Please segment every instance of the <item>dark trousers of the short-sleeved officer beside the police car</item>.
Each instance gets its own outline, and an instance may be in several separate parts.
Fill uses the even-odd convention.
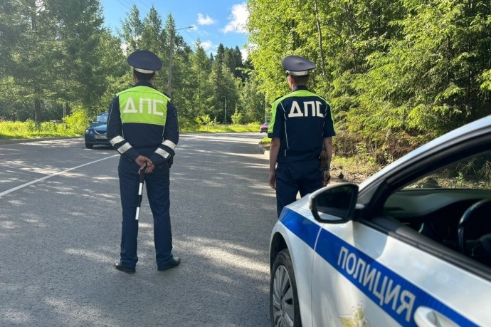
[[[320,160],[278,162],[276,166],[276,208],[278,217],[285,205],[323,187]]]

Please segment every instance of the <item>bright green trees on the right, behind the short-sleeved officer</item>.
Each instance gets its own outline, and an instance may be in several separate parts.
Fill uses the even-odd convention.
[[[268,101],[285,54],[317,63],[338,155],[385,163],[490,114],[489,0],[249,0],[250,60]]]

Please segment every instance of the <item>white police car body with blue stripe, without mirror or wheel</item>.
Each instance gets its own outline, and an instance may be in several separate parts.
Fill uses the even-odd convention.
[[[398,176],[417,171],[419,162],[426,167],[424,160],[433,160],[438,166],[453,149],[491,150],[491,144],[476,142],[479,137],[490,143],[485,138],[491,139],[491,118],[429,142],[362,183],[357,199],[361,219],[331,223],[328,214],[322,214],[325,222],[315,219],[312,197],[337,185],[283,209],[271,234],[270,266],[281,249],[289,251],[302,326],[491,326],[491,269],[385,217],[391,210],[401,221],[405,210],[426,217],[425,211],[438,212],[450,202],[472,201],[475,193],[410,190],[390,195],[384,214],[369,209],[381,185],[400,190]],[[491,198],[491,192],[479,192],[479,198]],[[391,230],[391,224],[401,226]]]

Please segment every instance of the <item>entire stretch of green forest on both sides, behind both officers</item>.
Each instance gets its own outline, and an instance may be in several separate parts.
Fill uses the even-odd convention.
[[[184,125],[262,121],[267,103],[288,91],[281,59],[305,56],[317,63],[309,87],[332,107],[337,155],[382,164],[491,113],[489,0],[247,5],[245,61],[238,47],[211,54],[187,44],[173,17],[153,7],[142,17],[133,6],[115,36],[99,0],[2,0],[0,119],[106,110],[132,83],[125,58],[135,49],[162,58],[156,86],[170,91]]]

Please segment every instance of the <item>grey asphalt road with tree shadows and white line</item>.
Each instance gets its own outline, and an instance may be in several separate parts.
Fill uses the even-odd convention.
[[[117,161],[83,139],[0,145],[0,326],[268,326],[276,222],[259,133],[181,135],[174,254],[159,272],[146,195],[136,274],[120,250]]]

